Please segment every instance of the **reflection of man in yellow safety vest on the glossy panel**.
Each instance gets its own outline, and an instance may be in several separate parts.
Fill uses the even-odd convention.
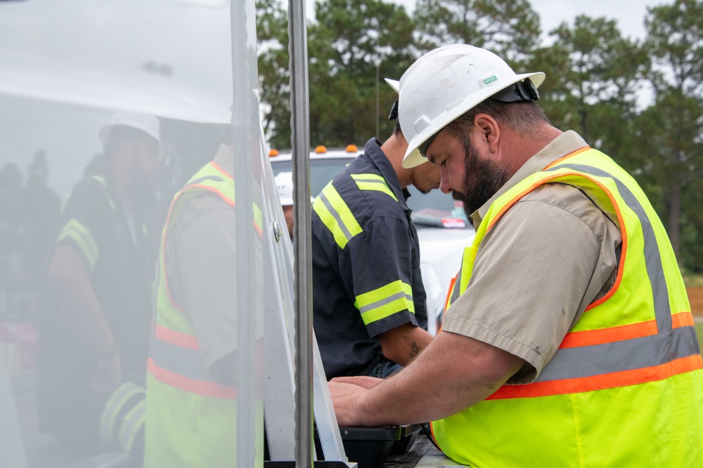
[[[245,261],[236,250],[233,173],[232,149],[222,145],[174,196],[166,220],[148,359],[145,467],[226,467],[236,460],[236,267]],[[250,206],[251,250],[244,255],[258,260],[246,274],[262,281],[261,210]]]

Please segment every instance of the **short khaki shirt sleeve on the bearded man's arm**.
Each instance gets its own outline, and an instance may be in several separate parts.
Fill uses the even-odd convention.
[[[579,189],[539,187],[486,235],[442,328],[521,357],[527,365],[509,382],[530,382],[614,283],[620,243],[617,228]]]

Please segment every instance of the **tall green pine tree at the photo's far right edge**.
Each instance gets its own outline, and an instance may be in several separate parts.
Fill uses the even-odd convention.
[[[645,47],[656,96],[642,113],[640,150],[650,185],[661,190],[660,215],[679,261],[703,270],[699,216],[703,173],[703,2],[676,0],[650,8]],[[681,248],[683,244],[683,249]]]

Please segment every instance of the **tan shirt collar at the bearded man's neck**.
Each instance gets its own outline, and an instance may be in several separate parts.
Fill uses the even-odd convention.
[[[488,208],[491,206],[491,203],[496,201],[498,197],[505,194],[505,192],[508,192],[508,190],[512,189],[512,187],[515,187],[515,185],[517,185],[520,181],[527,178],[528,175],[538,173],[557,159],[560,159],[563,156],[573,153],[577,149],[581,149],[586,146],[588,146],[586,140],[583,140],[581,135],[572,130],[562,133],[557,138],[549,142],[549,144],[546,147],[543,147],[540,152],[525,161],[522,167],[518,169],[510,179],[508,179],[508,182],[505,182],[503,187],[498,189],[498,192],[496,192],[494,196],[491,196],[489,201],[486,201],[481,208],[471,214],[471,220],[475,229],[478,229],[484,216],[488,212]]]

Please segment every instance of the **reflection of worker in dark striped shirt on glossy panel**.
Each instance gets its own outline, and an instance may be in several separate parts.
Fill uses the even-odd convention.
[[[67,199],[49,269],[57,311],[43,323],[39,410],[69,448],[137,450],[153,257],[144,227],[161,145],[153,116],[117,112],[101,166]]]

